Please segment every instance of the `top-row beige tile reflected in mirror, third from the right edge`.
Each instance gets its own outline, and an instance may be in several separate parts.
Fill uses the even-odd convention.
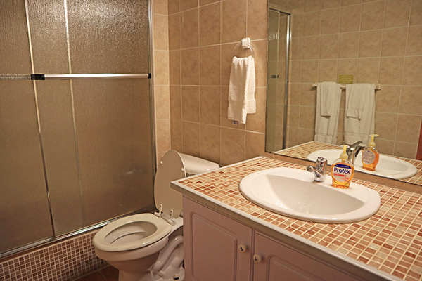
[[[385,1],[362,4],[361,30],[379,30],[383,28]]]

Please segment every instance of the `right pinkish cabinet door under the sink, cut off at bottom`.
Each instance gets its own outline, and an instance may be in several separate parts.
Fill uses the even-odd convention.
[[[255,254],[261,260],[254,263],[254,281],[357,280],[261,233],[255,234]]]

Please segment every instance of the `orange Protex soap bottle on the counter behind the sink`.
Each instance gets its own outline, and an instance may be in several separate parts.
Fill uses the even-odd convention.
[[[350,181],[354,176],[354,166],[349,161],[346,149],[347,145],[343,145],[343,153],[340,154],[340,158],[331,164],[331,177],[335,188],[349,188]]]

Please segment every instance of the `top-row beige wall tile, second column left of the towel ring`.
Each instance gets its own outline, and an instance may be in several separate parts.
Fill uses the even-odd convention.
[[[199,8],[199,45],[219,44],[221,22],[221,3]]]

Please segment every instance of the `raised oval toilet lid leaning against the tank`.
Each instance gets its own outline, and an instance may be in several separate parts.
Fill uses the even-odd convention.
[[[170,210],[173,210],[173,217],[178,218],[181,213],[182,195],[180,192],[170,188],[170,182],[179,178],[185,178],[186,172],[183,161],[179,153],[175,150],[169,150],[161,158],[158,165],[157,174],[154,183],[155,207],[170,216]]]

